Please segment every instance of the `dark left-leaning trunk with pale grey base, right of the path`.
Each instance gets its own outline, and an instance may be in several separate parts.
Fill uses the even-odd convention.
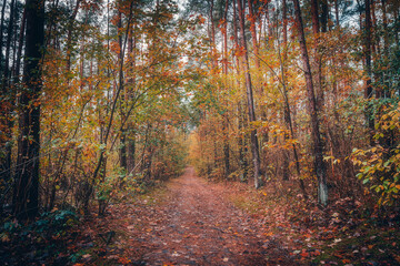
[[[311,117],[312,155],[314,158],[314,172],[318,178],[318,202],[326,206],[328,204],[328,186],[326,180],[326,167],[323,164],[322,141],[320,136],[320,126],[318,121],[317,102],[316,102],[313,84],[312,84],[310,60],[306,45],[304,30],[303,30],[299,0],[293,0],[293,3],[294,3],[296,23],[299,34],[301,58],[303,62],[303,71],[306,76],[308,109]]]

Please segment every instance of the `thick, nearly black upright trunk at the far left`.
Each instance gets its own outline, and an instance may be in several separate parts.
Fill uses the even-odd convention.
[[[33,218],[39,211],[40,60],[44,44],[44,1],[27,0],[27,33],[23,85],[20,96],[20,136],[13,194],[13,213]]]

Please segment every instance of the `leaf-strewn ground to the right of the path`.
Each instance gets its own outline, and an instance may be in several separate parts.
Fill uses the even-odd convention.
[[[299,264],[400,264],[398,214],[371,213],[370,208],[350,198],[320,209],[296,194],[291,188],[296,185],[290,182],[281,194],[286,196],[277,193],[276,183],[267,184],[259,192],[240,183],[227,185],[231,202],[252,213],[269,232],[267,235],[279,239]]]

